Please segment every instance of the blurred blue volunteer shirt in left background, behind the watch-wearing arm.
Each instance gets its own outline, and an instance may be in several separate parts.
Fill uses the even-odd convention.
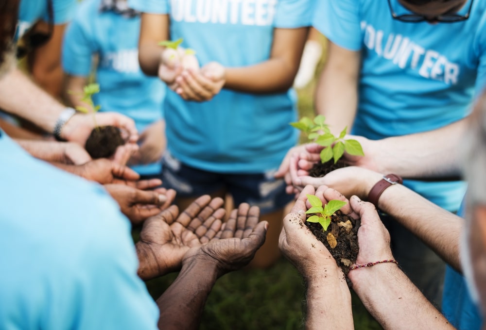
[[[93,102],[101,111],[113,111],[135,120],[139,132],[162,119],[165,84],[140,69],[138,42],[140,17],[127,18],[112,11],[100,12],[100,0],[79,4],[64,36],[62,63],[65,72],[88,76],[93,54],[99,55],[96,80],[100,93]],[[132,166],[140,174],[157,174],[161,162]]]

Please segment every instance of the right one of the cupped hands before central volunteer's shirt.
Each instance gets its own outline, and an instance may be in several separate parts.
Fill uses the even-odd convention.
[[[217,62],[209,62],[201,70],[185,69],[175,79],[175,92],[183,99],[208,101],[218,94],[226,82],[225,67]]]

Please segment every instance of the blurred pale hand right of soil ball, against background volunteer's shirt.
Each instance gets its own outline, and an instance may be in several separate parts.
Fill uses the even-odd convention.
[[[148,126],[139,138],[140,148],[130,159],[130,165],[155,163],[162,158],[167,140],[165,138],[165,122],[158,120]]]

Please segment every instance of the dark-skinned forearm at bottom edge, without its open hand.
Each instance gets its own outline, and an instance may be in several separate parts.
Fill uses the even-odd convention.
[[[174,283],[157,299],[159,329],[198,329],[204,304],[216,280],[212,264],[197,260],[183,264]]]

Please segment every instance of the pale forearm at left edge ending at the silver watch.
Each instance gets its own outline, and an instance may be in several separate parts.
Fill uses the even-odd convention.
[[[65,107],[15,68],[0,78],[0,108],[52,132]]]

